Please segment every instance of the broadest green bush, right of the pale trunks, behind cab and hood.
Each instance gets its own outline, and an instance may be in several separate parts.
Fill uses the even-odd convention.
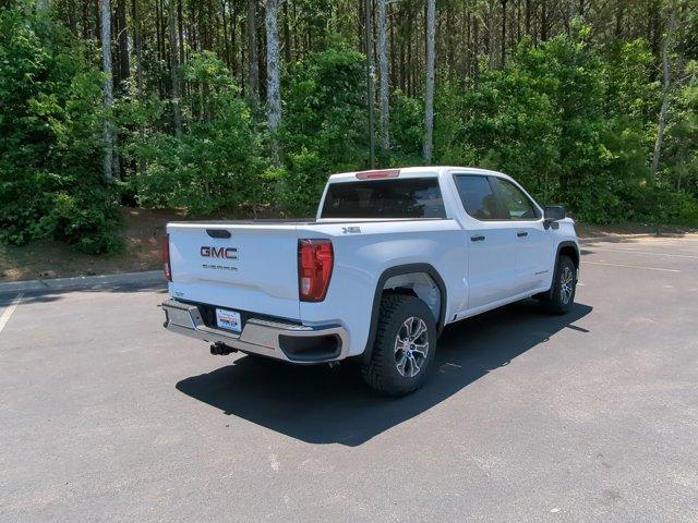
[[[504,70],[484,71],[477,85],[442,83],[436,99],[436,162],[501,170],[539,200],[563,203],[583,221],[662,216],[689,223],[695,216],[693,198],[638,190],[654,184],[648,151],[655,126],[647,119],[658,90],[648,83],[647,44],[628,42],[602,54],[586,42],[583,26],[574,29],[573,37],[557,36],[535,47],[524,41]],[[408,114],[418,113],[412,100],[398,100],[401,122],[408,121],[405,108],[413,108]],[[684,125],[690,121],[689,111],[685,114]],[[412,129],[417,120],[412,117]],[[686,147],[673,147],[676,141],[672,141],[679,131],[686,133],[678,123],[669,126],[665,154],[676,150],[688,159],[681,163],[686,166],[682,174],[688,186],[694,179],[693,157]],[[651,205],[640,205],[642,197]],[[662,197],[667,199],[660,205]]]

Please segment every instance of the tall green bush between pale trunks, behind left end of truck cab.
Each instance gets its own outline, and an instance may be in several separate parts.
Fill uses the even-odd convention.
[[[334,39],[285,75],[279,138],[287,210],[308,215],[329,174],[368,166],[364,68],[363,54]]]

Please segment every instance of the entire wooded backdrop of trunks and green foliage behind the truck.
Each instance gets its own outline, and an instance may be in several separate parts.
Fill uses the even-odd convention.
[[[414,165],[698,227],[697,150],[698,0],[0,0],[5,244],[308,216],[334,172]]]

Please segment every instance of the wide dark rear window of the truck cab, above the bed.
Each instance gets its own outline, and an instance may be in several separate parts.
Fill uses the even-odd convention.
[[[436,178],[332,183],[322,218],[445,218]]]

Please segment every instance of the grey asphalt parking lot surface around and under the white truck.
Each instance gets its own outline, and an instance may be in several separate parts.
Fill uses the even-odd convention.
[[[698,235],[448,327],[376,397],[166,332],[164,289],[0,296],[0,521],[698,521]]]

